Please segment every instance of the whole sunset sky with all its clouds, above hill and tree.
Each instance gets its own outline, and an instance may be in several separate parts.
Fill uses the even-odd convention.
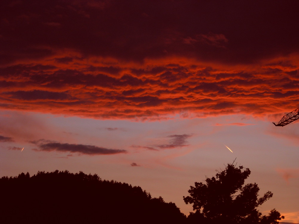
[[[258,209],[299,223],[299,123],[272,124],[299,107],[298,10],[1,0],[0,176],[96,173],[188,215],[190,186],[236,159],[274,194]]]

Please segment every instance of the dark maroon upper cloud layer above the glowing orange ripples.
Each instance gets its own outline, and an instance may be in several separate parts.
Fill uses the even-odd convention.
[[[71,48],[126,60],[188,55],[248,63],[299,47],[295,0],[13,2],[1,1],[1,54],[7,61]]]

